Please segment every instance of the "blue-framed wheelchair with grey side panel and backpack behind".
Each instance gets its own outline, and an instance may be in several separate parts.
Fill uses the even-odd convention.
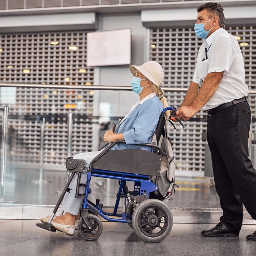
[[[165,116],[167,110],[171,110],[169,117]],[[159,242],[165,239],[172,230],[173,217],[170,209],[162,201],[175,192],[176,186],[174,177],[176,165],[173,161],[172,144],[167,136],[166,122],[172,123],[172,121],[177,120],[181,123],[175,116],[176,110],[175,107],[167,107],[162,110],[155,131],[155,144],[136,144],[137,146],[151,147],[151,152],[137,148],[110,150],[117,143],[125,143],[123,140],[108,143],[100,148],[99,150],[103,150],[91,161],[88,170],[86,170],[86,184],[80,183],[86,162],[72,157],[67,158],[66,167],[71,176],[49,222],[37,223],[37,226],[49,231],[56,231],[51,222],[75,173],[78,173],[75,197],[84,198],[78,223],[78,233],[84,240],[92,241],[101,236],[103,225],[99,217],[107,221],[127,223],[136,235],[145,242]],[[174,126],[173,123],[172,125]],[[182,123],[181,125],[184,128]],[[160,143],[161,139],[162,142]],[[144,160],[141,161],[141,159]],[[92,177],[118,180],[120,185],[113,212],[103,211],[103,204],[99,203],[99,199],[96,199],[95,203],[88,199],[92,192],[90,189]],[[127,181],[134,182],[133,191],[128,190]],[[79,194],[80,186],[85,187],[84,194]],[[121,214],[117,213],[120,200],[122,201]]]

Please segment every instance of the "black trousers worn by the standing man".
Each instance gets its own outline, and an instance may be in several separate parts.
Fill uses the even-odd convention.
[[[256,170],[248,157],[250,124],[248,102],[207,116],[207,142],[215,187],[223,210],[220,221],[237,235],[242,226],[242,203],[256,219]]]

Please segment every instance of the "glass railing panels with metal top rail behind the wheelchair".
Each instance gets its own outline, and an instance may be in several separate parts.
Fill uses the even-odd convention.
[[[121,86],[70,86],[67,89],[56,85],[26,86],[2,86],[0,91],[0,206],[53,206],[68,178],[65,159],[77,153],[97,151],[105,144],[105,131],[129,112],[138,95],[129,87]],[[249,96],[253,109],[255,93],[250,91]],[[255,120],[255,111],[252,111],[249,146],[253,162],[256,159]],[[176,124],[175,130],[168,126],[174,161],[178,165],[176,184],[179,188],[165,202],[171,208],[220,208],[206,142],[205,117],[198,115],[184,125],[182,129]],[[117,188],[116,180],[93,177],[90,200],[101,199],[105,207],[112,207]]]

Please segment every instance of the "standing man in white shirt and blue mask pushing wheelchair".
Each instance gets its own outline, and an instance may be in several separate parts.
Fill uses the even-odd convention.
[[[215,187],[223,215],[203,236],[239,236],[246,210],[256,219],[256,170],[248,158],[251,110],[247,102],[244,60],[237,40],[225,30],[223,7],[197,9],[195,32],[204,39],[193,80],[176,114],[185,121],[201,109],[207,115]],[[256,241],[256,232],[246,237]]]

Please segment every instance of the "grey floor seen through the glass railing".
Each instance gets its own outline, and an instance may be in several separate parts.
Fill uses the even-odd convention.
[[[17,200],[19,204],[54,205],[59,195],[55,191],[63,189],[66,182],[65,172],[45,171],[44,179],[50,183],[34,184],[31,180],[39,177],[38,170],[7,170],[5,179],[5,199]],[[175,195],[165,200],[171,207],[184,208],[220,208],[219,198],[215,187],[211,186],[209,178],[176,177],[179,186]],[[128,183],[132,190],[132,183]],[[91,180],[92,193],[90,199],[101,199],[104,206],[114,206],[115,194],[118,190],[117,180],[93,177]]]

